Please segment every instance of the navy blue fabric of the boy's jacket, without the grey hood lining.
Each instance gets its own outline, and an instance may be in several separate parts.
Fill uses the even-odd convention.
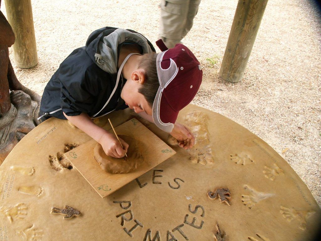
[[[116,29],[105,27],[92,32],[86,46],[75,49],[60,64],[45,87],[39,116],[60,108],[62,110],[47,114],[42,120],[51,116],[66,119],[63,112],[67,116],[80,115],[82,112],[92,116],[101,110],[116,85],[117,73],[110,74],[98,67],[95,63],[95,53],[99,40]],[[128,31],[137,33],[133,30]],[[148,40],[147,42],[152,51],[155,51],[152,44]],[[122,44],[117,47],[118,54]],[[125,82],[125,79],[119,81],[115,94],[99,113],[99,116],[128,107],[120,98],[120,92]]]

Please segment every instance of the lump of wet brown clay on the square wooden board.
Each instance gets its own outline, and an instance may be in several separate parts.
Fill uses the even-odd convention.
[[[135,171],[143,162],[143,143],[129,136],[118,135],[118,137],[129,145],[126,161],[124,158],[107,156],[99,143],[94,147],[94,158],[101,169],[111,174]]]

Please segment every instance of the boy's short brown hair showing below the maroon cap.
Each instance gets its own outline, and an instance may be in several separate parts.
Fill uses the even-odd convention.
[[[138,89],[138,93],[143,94],[151,107],[153,107],[154,99],[160,86],[157,76],[156,58],[157,53],[155,52],[144,54],[139,64],[139,68],[145,70],[145,81],[143,86]]]

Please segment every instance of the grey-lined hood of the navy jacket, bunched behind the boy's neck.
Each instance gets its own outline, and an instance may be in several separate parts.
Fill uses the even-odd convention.
[[[140,33],[111,27],[94,31],[87,40],[86,51],[98,67],[110,74],[116,74],[118,45],[125,41],[140,45],[143,54],[155,51],[154,48],[151,48],[149,41]]]

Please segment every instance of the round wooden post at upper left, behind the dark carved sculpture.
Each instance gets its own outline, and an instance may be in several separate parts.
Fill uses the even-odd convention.
[[[13,56],[20,68],[31,68],[38,63],[31,0],[5,0],[8,22],[13,28],[15,42]]]

